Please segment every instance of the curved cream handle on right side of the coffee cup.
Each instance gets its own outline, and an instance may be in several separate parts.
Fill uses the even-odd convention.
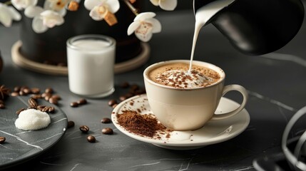
[[[233,85],[225,86],[223,88],[222,96],[225,95],[225,93],[228,93],[231,90],[237,90],[238,92],[240,92],[243,95],[243,103],[241,103],[238,108],[236,108],[235,110],[230,111],[228,113],[223,113],[223,114],[220,114],[220,115],[214,114],[213,118],[211,118],[211,120],[221,120],[221,119],[225,119],[225,118],[230,118],[231,116],[239,113],[241,110],[243,110],[243,108],[245,108],[245,105],[248,101],[248,91],[243,86],[233,84]]]

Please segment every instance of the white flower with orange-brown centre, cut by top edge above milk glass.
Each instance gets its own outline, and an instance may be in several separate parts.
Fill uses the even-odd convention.
[[[120,9],[118,0],[85,0],[84,6],[90,10],[89,16],[96,21],[101,21],[107,12],[115,14]]]

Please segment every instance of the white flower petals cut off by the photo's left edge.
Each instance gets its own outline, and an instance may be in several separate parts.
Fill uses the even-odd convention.
[[[0,23],[6,27],[11,26],[13,20],[19,21],[21,15],[12,6],[0,3]]]

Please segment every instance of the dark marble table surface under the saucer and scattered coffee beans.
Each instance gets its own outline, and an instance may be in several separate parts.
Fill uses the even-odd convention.
[[[166,150],[129,138],[113,124],[101,124],[101,118],[111,117],[113,109],[108,106],[108,100],[125,92],[120,87],[123,81],[143,86],[143,70],[151,63],[190,58],[193,12],[160,12],[157,18],[163,31],[149,42],[151,56],[148,62],[133,71],[116,74],[113,95],[88,99],[88,104],[79,108],[69,105],[80,97],[69,91],[66,76],[35,73],[12,62],[11,46],[19,40],[19,24],[11,28],[0,26],[0,49],[4,59],[0,84],[9,88],[24,85],[41,89],[52,87],[63,98],[58,107],[76,124],[49,150],[19,165],[11,165],[9,170],[255,170],[253,161],[257,157],[281,152],[285,125],[306,105],[305,23],[290,43],[264,56],[246,56],[236,51],[211,25],[200,32],[195,60],[220,66],[227,74],[225,84],[240,84],[250,96],[246,105],[250,124],[231,140],[197,150]],[[241,100],[236,93],[226,97]],[[91,128],[96,143],[87,142],[86,135],[78,130],[80,125]],[[113,128],[113,135],[101,133],[106,126]],[[4,148],[0,145],[0,157],[5,157],[1,154]]]

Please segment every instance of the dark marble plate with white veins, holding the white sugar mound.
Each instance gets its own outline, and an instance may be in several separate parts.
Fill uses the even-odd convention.
[[[29,97],[9,97],[5,100],[5,109],[0,109],[0,136],[6,141],[0,144],[0,169],[17,165],[30,160],[42,152],[48,150],[60,140],[67,128],[67,117],[56,105],[46,100],[39,100],[39,105],[49,105],[56,108],[51,113],[51,123],[47,128],[41,130],[19,130],[15,126],[18,118],[16,111],[28,107]]]

